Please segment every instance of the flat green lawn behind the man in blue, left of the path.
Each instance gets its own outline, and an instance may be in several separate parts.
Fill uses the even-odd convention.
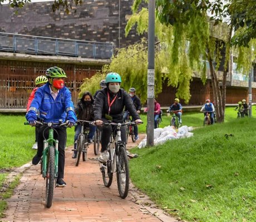
[[[32,160],[36,150],[35,127],[24,125],[22,115],[0,115],[0,169],[21,166]],[[67,145],[73,144],[73,128],[67,129]]]

